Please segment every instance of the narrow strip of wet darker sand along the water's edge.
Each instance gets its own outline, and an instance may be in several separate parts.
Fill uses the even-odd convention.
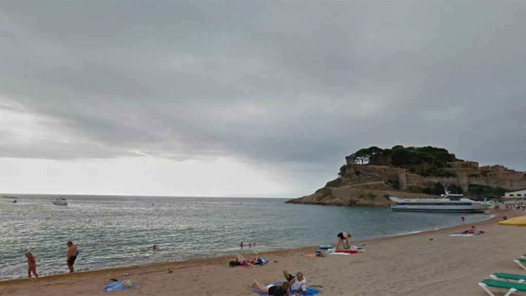
[[[431,230],[422,230],[422,231],[416,231],[411,233],[401,233],[401,234],[392,234],[392,235],[386,235],[386,236],[378,236],[376,238],[368,238],[363,240],[351,240],[351,244],[356,245],[364,245],[364,244],[370,244],[370,243],[377,243],[377,242],[385,242],[393,239],[399,239],[399,238],[407,238],[412,236],[421,236],[421,235],[428,235],[432,233],[443,233],[443,232],[449,232],[449,231],[456,231],[456,230],[465,230],[466,228],[474,226],[480,226],[480,225],[487,225],[492,224],[494,222],[500,221],[503,215],[507,214],[509,218],[512,218],[514,215],[510,215],[513,213],[513,211],[494,211],[490,210],[488,214],[490,214],[490,218],[483,221],[473,222],[473,223],[466,223],[461,225],[455,225],[455,226],[449,226],[446,228],[440,228],[440,229],[431,229]],[[321,243],[320,243],[321,244]],[[332,242],[331,244],[334,244]],[[239,253],[244,256],[254,256],[256,253],[261,255],[264,258],[272,257],[272,256],[284,256],[284,255],[290,255],[295,253],[312,253],[315,250],[319,249],[319,245],[317,246],[304,246],[300,248],[290,248],[290,249],[278,249],[278,250],[269,250],[264,252],[242,252],[240,250]],[[79,271],[75,272],[73,274],[70,273],[56,273],[56,274],[49,274],[49,275],[43,275],[41,277],[38,277],[37,279],[34,278],[32,281],[47,281],[47,280],[55,280],[55,279],[63,279],[63,278],[70,278],[70,277],[85,277],[89,275],[97,275],[97,274],[104,274],[104,273],[118,273],[118,272],[124,272],[124,273],[131,273],[133,271],[137,271],[140,269],[159,269],[159,268],[168,268],[171,269],[181,269],[186,268],[189,266],[202,266],[202,265],[224,265],[228,266],[228,262],[232,260],[232,257],[236,254],[229,254],[229,255],[221,255],[221,256],[215,256],[215,257],[203,257],[203,258],[196,258],[196,259],[187,259],[187,260],[181,260],[181,261],[167,261],[167,262],[158,262],[158,263],[147,263],[147,264],[137,264],[137,265],[126,265],[124,267],[109,267],[109,268],[100,268],[100,269],[93,269],[93,270],[87,270],[87,271]],[[25,283],[28,282],[27,278],[17,278],[17,279],[7,279],[7,280],[0,280],[0,287],[3,285],[9,285],[9,284],[19,284],[19,283]]]

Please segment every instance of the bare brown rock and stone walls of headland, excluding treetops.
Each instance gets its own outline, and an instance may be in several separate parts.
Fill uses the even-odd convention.
[[[428,188],[434,183],[457,185],[466,192],[470,184],[502,187],[508,190],[526,188],[526,173],[503,166],[479,167],[477,162],[451,162],[448,171],[454,176],[426,177],[387,165],[356,164],[347,156],[347,174],[327,182],[315,193],[287,201],[297,204],[382,205],[390,204],[388,196],[397,198],[437,198],[437,195],[409,193],[412,187]],[[398,184],[400,190],[390,184]]]

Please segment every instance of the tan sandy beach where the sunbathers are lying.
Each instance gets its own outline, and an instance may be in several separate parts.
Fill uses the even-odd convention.
[[[322,285],[318,289],[325,295],[483,296],[485,292],[478,282],[490,273],[526,274],[513,262],[526,253],[526,228],[497,224],[503,214],[511,218],[524,212],[494,214],[495,218],[476,223],[485,234],[470,237],[448,236],[473,225],[466,223],[449,229],[353,242],[365,243],[366,251],[361,254],[325,258],[302,255],[317,249],[312,247],[261,253],[263,258],[277,262],[255,268],[229,268],[233,256],[222,256],[51,275],[2,281],[0,295],[255,295],[250,287],[254,279],[261,283],[282,280],[281,271],[287,269],[304,272],[307,284]],[[338,230],[335,239],[336,233]],[[173,273],[168,273],[168,269]],[[131,279],[136,288],[104,293],[105,282],[112,278]]]

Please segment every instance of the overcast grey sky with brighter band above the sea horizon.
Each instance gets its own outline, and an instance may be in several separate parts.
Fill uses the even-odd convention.
[[[370,145],[525,170],[524,15],[0,2],[0,192],[298,197]]]

